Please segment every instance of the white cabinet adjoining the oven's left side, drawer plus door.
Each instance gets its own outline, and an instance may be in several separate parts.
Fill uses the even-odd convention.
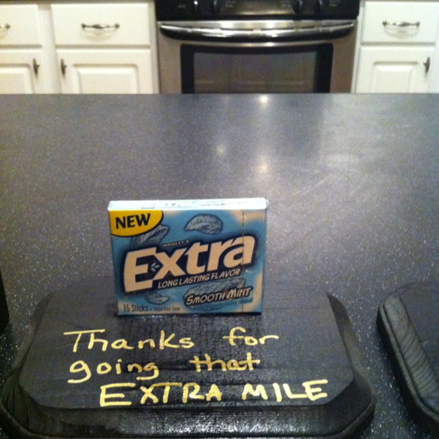
[[[62,93],[154,93],[150,5],[53,4]]]

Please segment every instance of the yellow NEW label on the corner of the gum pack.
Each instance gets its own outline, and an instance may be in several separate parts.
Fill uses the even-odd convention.
[[[163,219],[163,211],[109,211],[110,233],[134,236],[152,230]]]

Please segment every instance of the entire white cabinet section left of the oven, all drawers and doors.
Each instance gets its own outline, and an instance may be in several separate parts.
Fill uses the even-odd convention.
[[[158,93],[153,9],[152,0],[0,5],[0,93]]]

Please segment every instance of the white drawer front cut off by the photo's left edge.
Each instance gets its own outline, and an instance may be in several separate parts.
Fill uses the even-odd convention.
[[[0,5],[0,46],[40,44],[37,5]]]

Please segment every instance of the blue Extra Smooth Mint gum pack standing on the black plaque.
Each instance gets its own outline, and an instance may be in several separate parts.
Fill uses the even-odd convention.
[[[264,198],[112,201],[119,315],[260,313]]]

